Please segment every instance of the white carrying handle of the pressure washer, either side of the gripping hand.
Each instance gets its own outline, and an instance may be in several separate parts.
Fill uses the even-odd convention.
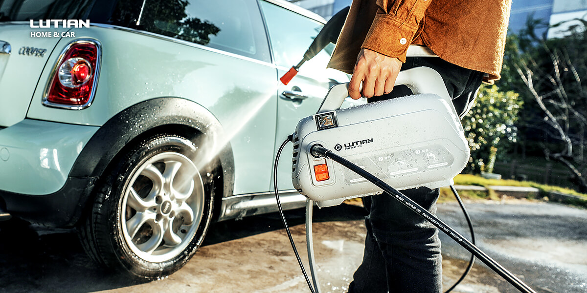
[[[430,67],[415,67],[400,71],[394,86],[404,84],[414,94],[437,94],[450,103],[450,97],[444,81],[436,70]],[[349,83],[340,83],[330,87],[317,113],[335,111],[349,96]]]

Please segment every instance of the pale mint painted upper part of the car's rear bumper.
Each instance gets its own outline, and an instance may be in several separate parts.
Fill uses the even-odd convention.
[[[25,119],[0,130],[0,186],[27,195],[61,189],[98,127]]]

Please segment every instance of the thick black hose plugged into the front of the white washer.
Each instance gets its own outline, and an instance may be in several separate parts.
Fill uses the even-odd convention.
[[[371,173],[361,169],[359,166],[355,165],[354,163],[348,161],[342,156],[334,154],[329,149],[323,148],[320,145],[313,145],[311,148],[311,154],[316,157],[325,157],[332,159],[332,161],[340,163],[340,165],[345,166],[346,168],[350,169],[363,178],[369,180],[371,183],[375,184],[377,187],[383,189],[384,192],[389,193],[392,195],[393,198],[399,200],[403,205],[409,207],[413,212],[419,214],[421,217],[424,217],[428,222],[436,226],[439,230],[443,231],[449,237],[451,237],[454,241],[457,241],[458,244],[463,246],[466,250],[472,253],[475,257],[479,258],[486,264],[491,270],[495,271],[498,275],[512,284],[515,288],[517,288],[520,292],[523,293],[536,293],[532,288],[526,285],[524,282],[519,280],[514,274],[510,271],[506,270],[502,267],[497,261],[493,260],[489,255],[485,254],[481,251],[478,247],[476,247],[473,243],[469,240],[465,239],[461,234],[459,234],[456,230],[442,222],[433,214],[429,213],[426,209],[418,205],[416,202],[411,200],[409,197],[403,195],[403,193],[397,191],[392,186],[389,186],[387,183],[383,182],[383,180],[377,178],[376,176],[372,175]]]

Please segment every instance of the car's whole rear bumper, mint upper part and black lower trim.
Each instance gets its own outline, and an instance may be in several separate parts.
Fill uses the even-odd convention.
[[[95,178],[70,174],[99,127],[23,120],[0,130],[0,212],[68,226]]]

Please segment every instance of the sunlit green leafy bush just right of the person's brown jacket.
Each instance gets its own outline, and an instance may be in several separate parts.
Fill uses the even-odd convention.
[[[515,124],[522,104],[514,91],[500,91],[495,85],[481,86],[475,106],[463,118],[463,128],[471,148],[466,171],[493,172],[498,154],[504,153],[507,144],[517,141]]]

